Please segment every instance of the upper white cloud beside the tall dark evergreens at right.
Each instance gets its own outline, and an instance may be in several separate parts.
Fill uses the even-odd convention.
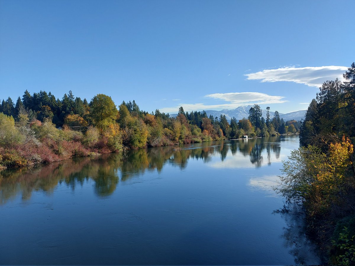
[[[339,78],[343,80],[343,73],[348,70],[344,66],[322,67],[281,67],[267,69],[256,73],[245,74],[247,79],[260,79],[261,82],[291,81],[306,84],[310,87],[321,87],[323,82]]]

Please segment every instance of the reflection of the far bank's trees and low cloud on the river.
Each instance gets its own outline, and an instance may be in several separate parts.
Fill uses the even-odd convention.
[[[58,184],[75,190],[85,181],[94,182],[95,194],[112,194],[119,182],[143,174],[145,171],[163,171],[166,164],[185,169],[189,160],[202,160],[212,167],[261,167],[280,161],[280,138],[257,138],[212,143],[180,145],[181,150],[169,147],[133,150],[127,153],[85,157],[31,168],[10,169],[0,172],[0,204],[21,195],[31,198],[34,191],[53,193]],[[228,154],[232,156],[228,156]],[[218,156],[219,155],[219,156]],[[218,160],[219,157],[219,160]]]

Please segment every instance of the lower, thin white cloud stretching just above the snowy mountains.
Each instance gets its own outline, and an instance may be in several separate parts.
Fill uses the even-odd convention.
[[[221,110],[221,109],[235,109],[242,105],[250,104],[279,104],[284,103],[284,96],[273,96],[259,92],[232,92],[232,93],[214,93],[205,95],[204,98],[215,100],[223,100],[226,103],[222,104],[205,104],[202,102],[180,103],[177,106],[165,107],[159,109],[161,112],[174,113],[178,112],[179,107],[182,106],[185,111],[202,111],[202,110]]]

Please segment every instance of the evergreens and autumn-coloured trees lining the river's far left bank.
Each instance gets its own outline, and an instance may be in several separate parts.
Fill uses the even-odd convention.
[[[32,95],[26,90],[16,103],[9,97],[0,105],[0,167],[21,167],[42,162],[111,153],[127,149],[183,143],[291,134],[300,122],[283,121],[267,107],[266,119],[259,105],[239,121],[225,116],[207,117],[205,111],[176,117],[158,109],[140,110],[135,100],[116,107],[110,96],[97,94],[90,102],[72,91],[62,99],[50,92]]]

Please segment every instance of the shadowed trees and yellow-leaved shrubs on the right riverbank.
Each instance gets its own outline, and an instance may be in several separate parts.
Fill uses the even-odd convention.
[[[355,63],[326,81],[300,128],[301,148],[284,162],[275,190],[301,204],[307,232],[332,265],[355,264]]]

